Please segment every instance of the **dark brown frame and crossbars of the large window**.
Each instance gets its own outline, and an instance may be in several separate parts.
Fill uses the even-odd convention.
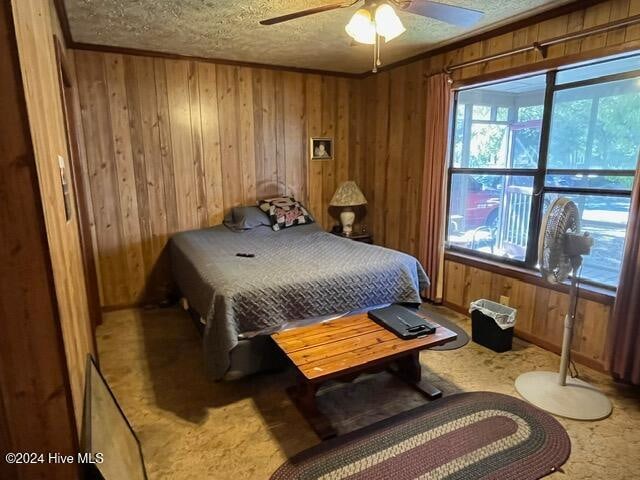
[[[640,56],[640,53],[634,53],[629,56]],[[604,63],[613,60],[612,58],[602,59],[597,62],[592,62],[591,65]],[[581,68],[585,64],[575,65],[570,68]],[[558,85],[556,83],[558,71],[565,68],[556,68],[545,72],[532,72],[527,75],[518,76],[514,78],[503,78],[490,83],[481,83],[477,85],[469,85],[454,90],[452,113],[450,116],[450,135],[449,135],[449,152],[448,152],[448,168],[447,168],[447,204],[446,204],[446,222],[445,222],[445,251],[452,253],[459,253],[465,256],[477,257],[489,262],[502,263],[519,268],[525,268],[527,270],[537,272],[537,252],[538,252],[538,239],[539,235],[536,232],[542,224],[543,211],[544,211],[544,197],[547,193],[559,193],[559,194],[574,194],[574,195],[593,195],[593,196],[615,196],[631,198],[632,191],[630,190],[618,190],[618,189],[606,189],[606,188],[584,188],[584,187],[558,187],[547,186],[546,177],[549,175],[580,175],[587,174],[593,175],[594,173],[601,176],[637,176],[638,163],[636,163],[636,170],[596,170],[596,169],[548,169],[548,154],[549,154],[549,140],[551,135],[551,122],[553,114],[553,99],[554,95],[558,91],[568,90],[573,88],[580,88],[590,85],[598,85],[603,83],[614,82],[618,80],[626,80],[632,78],[640,79],[640,69],[632,70],[628,72],[620,72],[615,74],[608,74],[597,78],[589,78],[586,80],[577,80],[574,82],[568,82]],[[469,167],[456,167],[455,162],[455,135],[456,135],[456,116],[458,111],[458,95],[460,92],[478,88],[481,86],[492,85],[496,83],[504,83],[509,80],[518,78],[529,78],[533,76],[545,75],[545,93],[543,102],[543,114],[542,124],[540,127],[540,144],[538,147],[538,167],[537,168],[469,168]],[[496,107],[497,110],[497,107]],[[465,110],[466,111],[466,110]],[[493,111],[493,107],[492,107]],[[473,108],[471,108],[470,122],[473,123]],[[493,115],[492,115],[493,117]],[[477,122],[477,121],[476,121]],[[486,121],[484,123],[495,123],[493,121]],[[504,122],[498,122],[504,123]],[[531,199],[531,215],[529,219],[529,230],[527,238],[527,249],[524,260],[517,260],[513,258],[505,258],[491,253],[479,252],[470,248],[460,247],[457,245],[449,244],[449,217],[451,209],[451,185],[453,181],[453,175],[509,175],[509,176],[525,176],[533,177],[533,195]],[[589,278],[583,278],[581,281],[587,285],[591,285],[597,288],[615,292],[616,286],[607,285]]]

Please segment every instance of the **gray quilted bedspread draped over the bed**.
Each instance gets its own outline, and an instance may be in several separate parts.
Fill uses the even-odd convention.
[[[206,321],[209,374],[220,379],[238,336],[284,322],[384,303],[420,303],[429,279],[410,255],[304,225],[182,232],[170,243],[174,279]],[[253,253],[242,258],[236,253]]]

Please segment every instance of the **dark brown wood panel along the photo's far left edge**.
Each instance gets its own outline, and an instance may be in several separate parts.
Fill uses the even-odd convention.
[[[4,461],[75,454],[77,435],[9,2],[0,2],[0,40],[0,478],[66,480],[75,465]]]

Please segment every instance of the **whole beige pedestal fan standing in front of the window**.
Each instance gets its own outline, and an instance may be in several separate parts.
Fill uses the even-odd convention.
[[[558,198],[549,206],[538,245],[538,262],[546,281],[561,283],[573,272],[569,312],[564,320],[559,372],[524,373],[516,379],[516,390],[529,403],[554,415],[576,420],[605,418],[611,413],[609,399],[587,382],[567,378],[582,255],[588,255],[593,246],[589,234],[580,233],[580,215],[575,203]]]

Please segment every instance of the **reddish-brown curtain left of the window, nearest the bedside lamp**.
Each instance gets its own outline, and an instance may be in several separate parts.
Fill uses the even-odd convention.
[[[444,274],[446,157],[451,109],[451,88],[446,74],[440,73],[427,79],[426,99],[418,258],[431,279],[431,286],[424,295],[431,301],[440,302]]]

